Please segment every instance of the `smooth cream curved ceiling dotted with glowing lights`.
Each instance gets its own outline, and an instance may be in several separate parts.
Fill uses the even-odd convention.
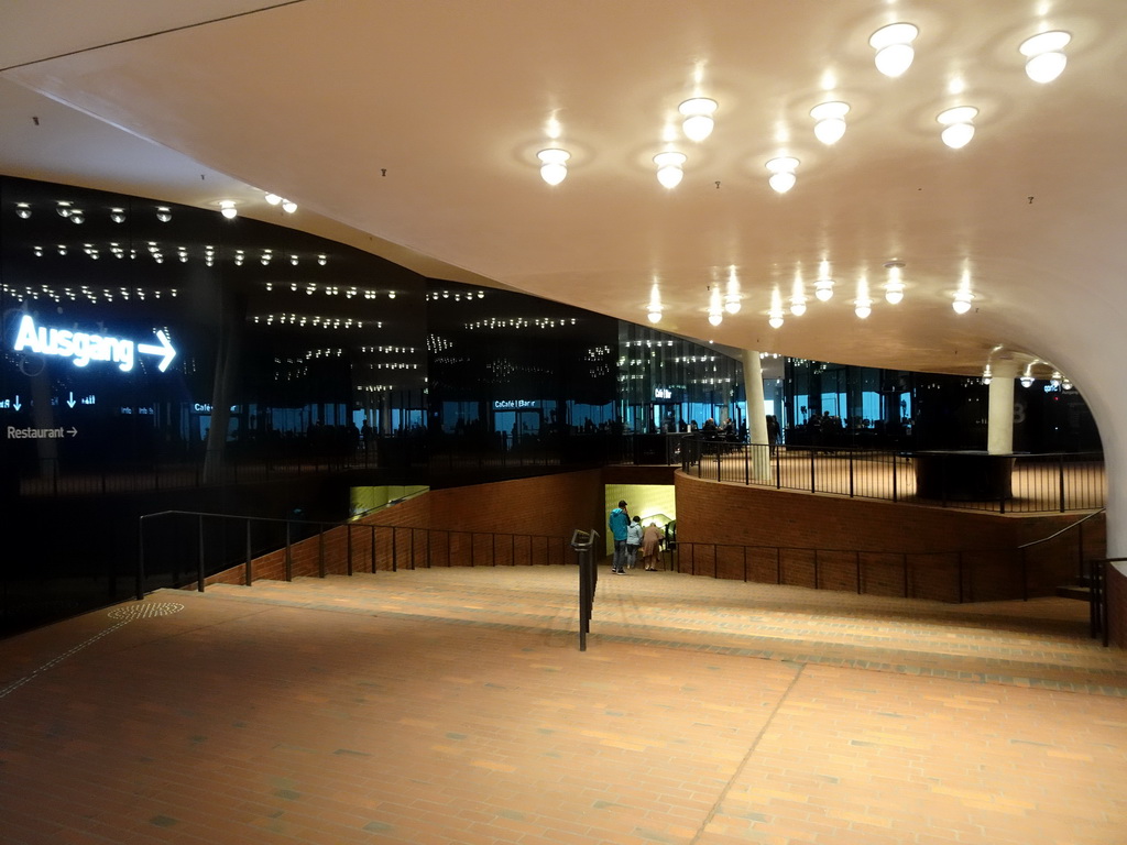
[[[429,276],[636,322],[656,285],[659,328],[737,348],[968,374],[997,349],[1076,375],[1122,346],[1121,0],[8,0],[0,16],[3,172],[231,197]],[[868,45],[894,20],[920,27],[898,79]],[[1046,28],[1073,39],[1042,86],[1018,45]],[[687,162],[667,190],[651,159],[694,94],[719,101],[716,130],[673,144]],[[826,99],[851,105],[834,146],[809,117]],[[977,131],[951,150],[935,117],[958,105]],[[571,152],[554,188],[535,160],[550,145]],[[764,168],[779,154],[801,162],[783,195]],[[709,287],[729,279],[740,311],[712,327]],[[796,285],[807,312],[770,328]]]

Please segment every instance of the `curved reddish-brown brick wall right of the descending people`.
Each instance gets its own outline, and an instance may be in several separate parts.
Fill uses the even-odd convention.
[[[1037,546],[1075,514],[999,515],[721,484],[677,473],[681,569],[719,578],[983,602],[1051,595],[1079,571],[1076,532]],[[1103,557],[1102,516],[1085,557]],[[749,546],[749,548],[748,548]],[[817,552],[815,552],[817,550]],[[1023,573],[1023,575],[1022,575]]]

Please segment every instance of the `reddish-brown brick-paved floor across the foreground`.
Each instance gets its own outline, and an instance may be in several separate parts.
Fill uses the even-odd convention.
[[[0,642],[0,842],[1127,842],[1068,599],[575,567],[161,592]]]

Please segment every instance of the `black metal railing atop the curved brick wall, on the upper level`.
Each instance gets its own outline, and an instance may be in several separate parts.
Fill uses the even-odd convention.
[[[980,497],[942,478],[934,495],[920,495],[914,457],[890,450],[771,446],[695,437],[683,438],[681,448],[682,470],[687,474],[779,490],[1002,514],[1092,510],[1106,504],[1107,478],[1099,453],[1014,455],[1001,492]]]

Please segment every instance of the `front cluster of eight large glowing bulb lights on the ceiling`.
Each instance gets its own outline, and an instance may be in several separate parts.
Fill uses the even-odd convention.
[[[881,27],[869,38],[869,44],[877,51],[877,70],[888,77],[899,77],[911,66],[915,57],[912,46],[920,34],[914,24],[889,24]],[[1063,48],[1072,41],[1068,33],[1061,30],[1045,32],[1027,38],[1019,46],[1019,52],[1027,56],[1026,73],[1035,82],[1051,82],[1064,71],[1067,61]],[[693,97],[684,100],[677,110],[684,118],[682,132],[690,141],[701,142],[712,134],[713,114],[719,108],[715,99]],[[845,115],[849,114],[848,103],[831,100],[820,103],[810,109],[814,118],[814,134],[824,144],[834,144],[845,134]],[[941,112],[937,122],[943,126],[941,139],[951,149],[960,149],[970,142],[975,134],[974,119],[978,109],[974,106],[956,106]],[[549,148],[536,153],[540,160],[540,176],[549,185],[559,185],[567,178],[567,162],[571,153],[561,148]],[[657,168],[657,180],[666,188],[675,188],[684,177],[684,164],[689,160],[678,150],[665,150],[654,157]],[[765,167],[771,172],[767,180],[771,187],[784,194],[795,186],[795,171],[799,160],[791,155],[780,155],[770,159]]]

